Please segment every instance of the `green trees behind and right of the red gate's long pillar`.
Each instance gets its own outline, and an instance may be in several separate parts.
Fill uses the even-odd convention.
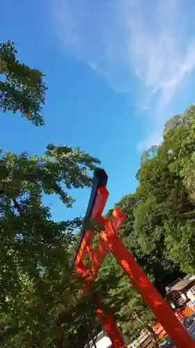
[[[162,144],[142,155],[136,193],[117,204],[126,214],[121,239],[162,296],[176,278],[194,274],[194,116],[189,106],[166,123]],[[96,281],[128,340],[151,325],[151,311],[111,256]]]

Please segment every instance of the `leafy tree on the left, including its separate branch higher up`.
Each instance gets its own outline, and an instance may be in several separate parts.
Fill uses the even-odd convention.
[[[42,73],[20,64],[14,45],[0,46],[3,111],[20,111],[35,125],[46,87]],[[80,148],[49,144],[44,156],[0,153],[1,347],[80,347],[99,329],[89,296],[69,267],[74,230],[81,219],[53,221],[43,196],[66,207],[70,189],[90,187],[99,159]]]

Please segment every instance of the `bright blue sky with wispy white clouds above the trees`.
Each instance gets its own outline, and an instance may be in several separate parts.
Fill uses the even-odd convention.
[[[46,74],[45,127],[1,114],[1,148],[42,154],[48,143],[80,146],[108,172],[108,208],[133,192],[142,150],[165,120],[194,103],[195,3],[184,0],[1,0],[0,40]],[[54,219],[71,210],[54,197]]]

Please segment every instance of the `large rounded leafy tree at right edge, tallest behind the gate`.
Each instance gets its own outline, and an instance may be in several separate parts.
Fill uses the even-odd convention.
[[[189,106],[183,116],[174,116],[165,125],[164,140],[155,157],[140,168],[139,205],[134,210],[135,238],[142,251],[156,251],[182,271],[192,273],[194,244],[189,231],[195,217],[194,111],[194,106]]]

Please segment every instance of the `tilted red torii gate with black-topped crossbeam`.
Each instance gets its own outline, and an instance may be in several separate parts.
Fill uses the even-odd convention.
[[[85,221],[95,221],[101,223],[105,230],[100,232],[99,244],[95,250],[92,248],[92,239],[94,237],[93,230],[85,230],[85,224],[80,232],[76,253],[72,264],[74,269],[80,276],[85,277],[85,283],[82,292],[87,291],[87,288],[92,283],[94,276],[99,271],[106,254],[110,250],[117,259],[117,262],[124,269],[130,282],[137,289],[142,299],[149,305],[155,317],[167,331],[169,337],[173,340],[178,348],[195,348],[195,341],[187,333],[183,325],[180,323],[176,315],[169,307],[158,290],[155,289],[149,278],[144,274],[137,262],[134,260],[130,252],[122,244],[117,236],[121,224],[125,216],[120,209],[114,209],[110,220],[106,220],[103,216],[103,209],[108,200],[108,190],[106,189],[108,176],[103,169],[94,171],[94,179],[92,185],[92,193],[90,202],[87,207]],[[85,256],[88,255],[91,260],[90,269],[84,264]],[[103,313],[101,308],[96,309],[99,320],[108,333],[112,342],[113,348],[126,347],[121,332],[117,328],[114,319]]]

